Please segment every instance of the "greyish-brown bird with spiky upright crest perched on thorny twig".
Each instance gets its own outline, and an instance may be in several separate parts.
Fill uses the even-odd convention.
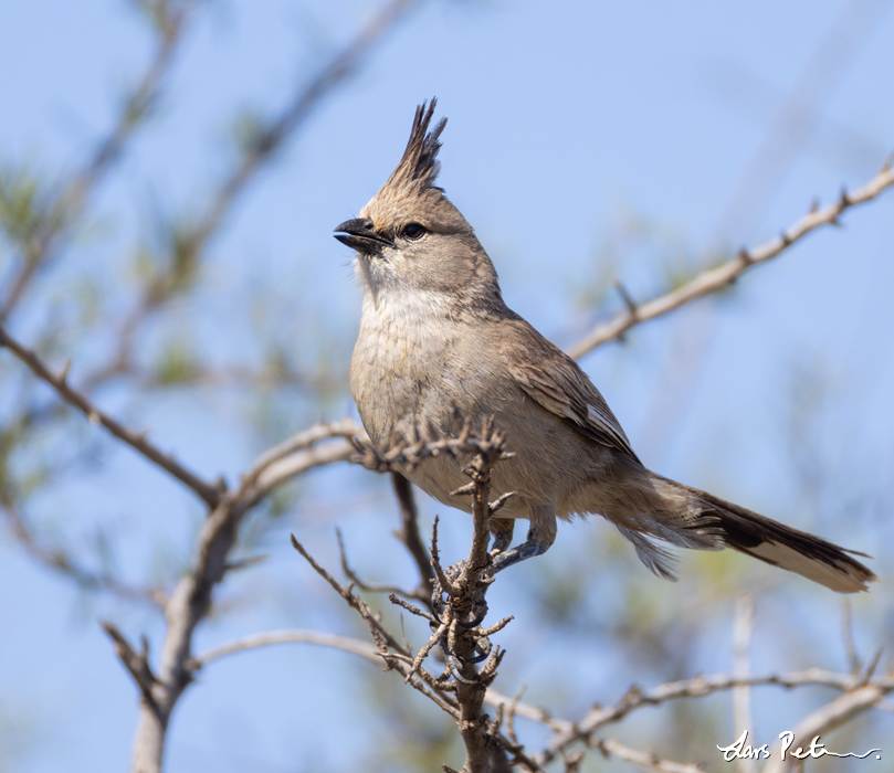
[[[545,553],[557,522],[600,515],[659,576],[675,580],[673,548],[732,548],[839,593],[875,574],[840,548],[649,470],[578,363],[509,309],[474,230],[437,184],[446,118],[417,107],[409,141],[359,215],[335,229],[351,247],[362,292],[350,391],[370,440],[435,441],[463,420],[492,419],[514,456],[492,470],[492,493],[514,493],[491,519],[492,571]],[[530,225],[530,224],[528,224]],[[406,470],[434,499],[467,479],[439,455]],[[511,547],[516,519],[525,541]]]

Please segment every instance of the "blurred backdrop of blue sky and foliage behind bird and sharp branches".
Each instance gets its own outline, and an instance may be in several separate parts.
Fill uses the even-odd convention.
[[[356,416],[359,289],[332,230],[385,182],[417,104],[437,96],[449,117],[440,183],[507,303],[571,347],[623,311],[613,280],[650,299],[875,176],[894,150],[891,4],[404,0],[267,152],[265,127],[385,3],[188,3],[148,109],[122,124],[159,61],[154,3],[0,2],[2,322],[53,367],[71,359],[72,384],[104,410],[232,484],[294,432]],[[114,158],[76,178],[83,197],[54,198],[116,125]],[[57,235],[15,296],[39,221]],[[581,366],[652,469],[874,555],[882,583],[850,604],[865,659],[894,632],[894,195],[842,225]],[[423,534],[440,512],[444,555],[464,554],[469,518],[419,504]],[[123,591],[170,590],[204,509],[0,351],[0,771],[122,770],[137,693],[97,621],[157,652],[164,621]],[[288,533],[335,571],[338,527],[360,576],[409,587],[397,526],[387,476],[339,464],[284,487],[242,533],[240,555],[266,560],[219,589],[197,650],[283,627],[365,638]],[[728,671],[742,592],[754,670],[850,668],[842,597],[730,552],[681,558],[666,583],[601,519],[561,527],[488,596],[494,620],[515,615],[495,637],[508,653],[495,687],[526,685],[526,701],[576,719],[631,682]],[[421,644],[427,628],[406,625]],[[756,690],[756,743],[833,695]],[[740,731],[722,693],[612,732],[726,770],[714,746]],[[456,738],[396,675],[292,645],[203,670],[167,770],[440,770],[462,764]],[[891,738],[894,717],[876,711],[824,740],[862,752]],[[872,763],[851,764],[817,770]],[[598,754],[583,767],[629,769]]]

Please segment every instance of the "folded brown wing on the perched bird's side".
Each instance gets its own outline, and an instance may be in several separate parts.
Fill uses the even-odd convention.
[[[624,431],[578,363],[524,319],[506,325],[522,328],[502,339],[508,371],[525,394],[581,435],[635,459]]]

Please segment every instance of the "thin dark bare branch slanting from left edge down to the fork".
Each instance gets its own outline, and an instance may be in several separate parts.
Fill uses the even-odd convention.
[[[170,454],[161,453],[156,446],[147,442],[143,434],[128,430],[119,422],[99,411],[83,394],[69,386],[67,364],[60,375],[54,375],[33,351],[11,338],[2,327],[0,327],[0,347],[9,349],[15,354],[15,357],[31,369],[34,375],[50,384],[66,403],[80,410],[91,424],[102,424],[119,441],[124,441],[152,464],[161,467],[180,483],[192,489],[208,505],[214,507],[220,501],[223,494],[221,486],[212,486],[202,480],[196,474],[180,465]]]

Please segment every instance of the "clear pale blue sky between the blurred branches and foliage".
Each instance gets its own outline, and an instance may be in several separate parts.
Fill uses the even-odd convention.
[[[333,342],[344,351],[345,369],[359,290],[350,254],[332,229],[383,182],[416,105],[437,95],[439,113],[449,117],[441,184],[488,250],[509,305],[569,346],[622,308],[617,296],[593,293],[606,272],[646,299],[661,290],[669,265],[692,272],[723,251],[758,244],[793,223],[813,197],[831,201],[842,186],[875,174],[894,150],[890,4],[422,3],[357,77],[320,104],[239,202],[211,246],[201,314],[188,307],[172,317],[221,360],[238,352],[251,361],[252,339],[246,328],[228,327],[228,307],[246,293],[270,290],[269,311],[280,315],[273,324],[281,332],[287,337],[299,324],[304,335],[318,335],[318,343],[305,345],[311,362]],[[376,8],[361,0],[210,3],[180,52],[157,118],[101,189],[92,233],[64,256],[41,297],[64,294],[66,278],[95,265],[107,272],[103,286],[126,303],[134,283],[122,255],[148,227],[146,212],[188,211],[201,202],[232,159],[234,113],[274,110]],[[120,0],[0,3],[0,161],[32,158],[51,176],[72,168],[109,125],[149,51],[137,14]],[[809,119],[780,133],[775,126],[783,108]],[[747,188],[759,195],[748,204],[740,191],[761,163],[760,184]],[[607,264],[611,245],[630,240],[630,248],[616,250],[616,264]],[[866,499],[891,493],[892,245],[888,193],[849,212],[844,227],[816,233],[756,268],[724,303],[697,304],[644,326],[623,347],[609,345],[582,364],[652,468],[817,528],[890,568],[883,553],[891,542],[876,530],[890,508],[811,507],[793,483],[797,454],[787,438],[792,402],[806,399],[804,373],[820,379],[831,398],[804,445],[833,480],[858,470],[853,485]],[[15,331],[27,337],[39,318],[24,315]],[[146,346],[154,341],[150,336]],[[78,354],[96,356],[90,347]],[[74,375],[77,367],[75,359]],[[244,404],[232,395],[212,394],[202,411],[196,399],[170,395],[134,407],[113,391],[105,404],[148,419],[165,447],[208,476],[232,480],[262,449],[261,437],[235,417],[234,406]],[[296,409],[282,436],[322,412],[350,411],[345,385],[322,409]],[[356,518],[298,508],[288,528],[303,530],[332,559],[333,526],[341,525],[349,542],[356,540],[357,563],[375,573],[381,553],[361,546],[391,528],[383,481],[370,484],[357,469],[327,470],[305,485],[303,501],[325,504],[330,487],[371,489],[372,505]],[[116,523],[136,575],[151,571],[155,551],[167,550],[175,561],[183,555],[201,515],[126,453],[96,479],[50,493],[40,507],[62,533],[80,533],[81,523]],[[431,502],[423,509],[435,511]],[[326,515],[307,521],[306,513],[318,512]],[[455,536],[448,539],[462,544],[464,526],[453,519],[448,529]],[[540,561],[572,560],[570,543],[597,527],[604,528],[567,528]],[[202,629],[201,648],[274,625],[345,626],[344,617],[322,611],[326,590],[294,564],[291,550],[271,550],[263,586],[273,589],[270,595],[234,623]],[[697,579],[686,574],[686,582]],[[804,608],[837,614],[837,600],[797,583],[786,576],[777,584]],[[302,593],[292,599],[296,584]],[[890,620],[892,601],[885,586],[859,601],[867,631],[876,629],[872,621]],[[785,605],[768,610],[771,628]],[[73,593],[0,539],[0,710],[21,709],[32,740],[15,770],[103,772],[127,764],[134,690],[98,615],[123,621],[135,636],[159,632],[148,615]],[[356,749],[333,749],[326,722],[291,700],[309,690],[366,731],[375,728],[349,697],[349,673],[338,676],[346,657],[283,648],[209,670],[175,716],[169,770],[347,764]],[[333,684],[320,684],[319,674],[330,671]]]

